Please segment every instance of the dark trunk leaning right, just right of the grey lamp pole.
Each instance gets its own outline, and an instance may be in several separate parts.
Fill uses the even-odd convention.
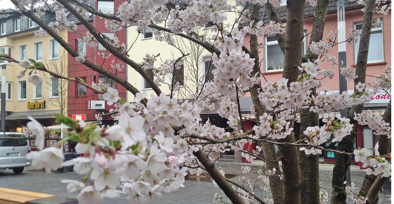
[[[375,9],[376,0],[367,0],[365,4],[364,10],[364,19],[362,24],[362,34],[360,38],[360,46],[359,52],[357,55],[357,67],[356,73],[358,73],[358,78],[354,81],[355,86],[361,82],[365,83],[365,72],[366,72],[366,64],[368,58],[368,48],[369,48],[369,38],[371,33],[371,23],[374,17],[374,9]],[[359,93],[357,89],[354,89],[355,93]],[[338,142],[338,150],[353,152],[354,140],[357,135],[357,121],[354,119],[354,113],[361,113],[363,110],[364,104],[352,106],[351,110],[347,112],[346,118],[349,118],[350,123],[353,124],[353,130],[350,135],[344,137],[341,142]],[[331,197],[332,204],[342,204],[346,203],[346,192],[345,185],[343,184],[346,181],[346,171],[350,165],[350,157],[345,154],[336,154],[335,155],[335,165],[333,170],[333,180],[332,180],[332,188],[333,193]]]

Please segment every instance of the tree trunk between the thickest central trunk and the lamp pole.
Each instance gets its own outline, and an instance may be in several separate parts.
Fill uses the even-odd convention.
[[[323,38],[328,6],[329,0],[319,0],[317,2],[310,43],[312,43],[312,41],[319,42]],[[307,62],[308,59],[312,61],[317,58],[318,55],[313,54],[311,50],[308,49],[307,55],[303,57],[302,62]],[[312,91],[312,94],[316,94],[316,87]],[[302,109],[300,114],[300,139],[306,137],[303,132],[307,130],[308,126],[319,126],[319,114],[311,112],[309,109]],[[301,171],[301,202],[305,204],[319,203],[319,156],[305,155],[304,151],[300,151],[299,154]]]

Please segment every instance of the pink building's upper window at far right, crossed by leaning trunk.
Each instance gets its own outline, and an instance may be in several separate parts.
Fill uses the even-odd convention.
[[[383,46],[383,20],[377,28],[371,29],[371,36],[369,39],[368,48],[368,63],[384,62],[384,46]],[[361,30],[362,22],[355,23],[356,30]],[[360,46],[360,37],[355,44],[355,64],[357,64],[358,49]]]

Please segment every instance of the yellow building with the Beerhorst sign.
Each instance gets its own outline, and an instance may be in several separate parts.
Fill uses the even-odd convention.
[[[44,18],[50,22],[51,18]],[[16,60],[34,59],[59,74],[67,74],[67,53],[50,35],[34,37],[39,27],[34,21],[20,14],[0,18],[0,52],[11,55]],[[67,41],[67,30],[59,34]],[[43,78],[39,85],[29,83],[29,71],[17,78],[25,70],[17,63],[0,61],[6,66],[6,132],[21,132],[21,127],[29,121],[27,116],[36,118],[44,126],[54,123],[53,114],[67,111],[67,81],[50,77],[37,71]],[[3,72],[0,73],[3,75]]]

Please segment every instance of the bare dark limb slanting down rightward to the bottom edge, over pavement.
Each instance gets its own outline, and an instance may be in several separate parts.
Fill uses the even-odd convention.
[[[217,170],[215,165],[211,162],[211,160],[209,160],[209,157],[202,149],[194,151],[193,155],[197,157],[197,159],[204,166],[205,170],[209,173],[216,184],[223,190],[232,203],[244,203],[244,201],[239,197],[237,191],[226,181],[226,178],[222,176],[220,171]]]

